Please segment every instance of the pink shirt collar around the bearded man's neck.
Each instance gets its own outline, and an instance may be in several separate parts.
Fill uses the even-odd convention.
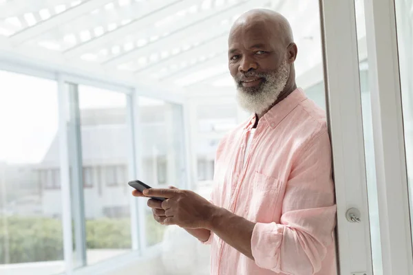
[[[278,102],[273,108],[264,114],[261,120],[265,120],[271,128],[275,128],[279,122],[282,122],[284,118],[291,113],[298,104],[307,99],[306,94],[301,88],[295,89],[284,100]],[[245,129],[252,128],[255,124],[255,114],[251,115],[249,122],[246,124]]]

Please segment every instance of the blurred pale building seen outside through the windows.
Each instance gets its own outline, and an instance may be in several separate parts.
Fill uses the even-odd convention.
[[[173,125],[167,125],[171,120],[168,120],[165,106],[140,107],[140,110],[140,179],[151,186],[179,186],[180,182],[177,181],[185,180],[187,173],[182,161],[184,144],[180,137],[183,133],[177,133]],[[217,118],[208,118],[211,113],[212,110],[203,113],[200,124],[219,122]],[[82,181],[86,219],[129,215],[131,189],[127,186],[127,181],[131,178],[127,164],[130,148],[125,116],[123,108],[81,110]],[[68,131],[71,131],[69,124],[68,127]],[[213,131],[210,128],[203,132]],[[211,185],[218,140],[200,136],[197,143],[194,147],[198,181],[205,188]],[[75,150],[70,148],[70,152],[72,151]],[[3,175],[0,177],[0,194],[7,197],[0,200],[5,202],[3,212],[61,217],[59,153],[59,135],[56,133],[39,164],[0,164],[0,172],[3,171],[3,174],[0,173]],[[72,175],[72,168],[70,170]],[[70,180],[75,179],[72,175]]]

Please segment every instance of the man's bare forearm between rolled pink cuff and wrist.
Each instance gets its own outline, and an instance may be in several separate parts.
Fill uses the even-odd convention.
[[[250,259],[254,259],[251,250],[251,236],[255,223],[237,216],[224,208],[215,208],[208,229],[217,234],[222,241]]]

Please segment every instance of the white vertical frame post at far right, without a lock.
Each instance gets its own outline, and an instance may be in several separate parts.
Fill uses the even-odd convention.
[[[412,274],[412,235],[394,0],[365,0],[383,274]]]

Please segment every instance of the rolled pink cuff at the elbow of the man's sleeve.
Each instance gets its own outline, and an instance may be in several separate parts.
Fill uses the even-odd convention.
[[[277,223],[256,223],[251,237],[251,252],[255,263],[267,270],[279,272],[279,246],[284,226]]]

